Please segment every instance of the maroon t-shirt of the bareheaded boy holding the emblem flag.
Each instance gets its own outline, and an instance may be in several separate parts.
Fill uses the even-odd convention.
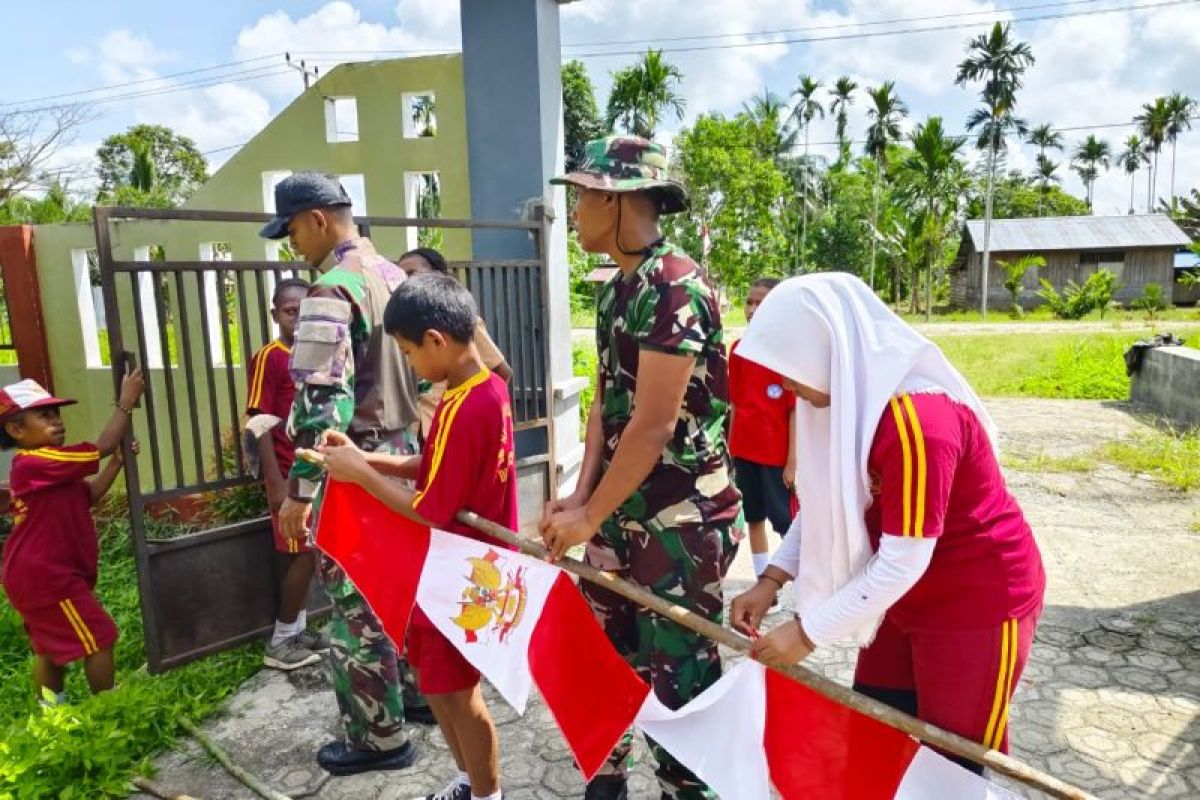
[[[416,486],[413,509],[437,528],[509,547],[455,519],[460,511],[474,511],[517,529],[512,405],[498,375],[481,369],[442,395]]]

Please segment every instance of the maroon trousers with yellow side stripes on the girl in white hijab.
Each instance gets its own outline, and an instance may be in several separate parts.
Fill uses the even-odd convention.
[[[1008,703],[1039,615],[961,631],[902,631],[884,619],[854,682],[916,692],[919,718],[1007,753]]]

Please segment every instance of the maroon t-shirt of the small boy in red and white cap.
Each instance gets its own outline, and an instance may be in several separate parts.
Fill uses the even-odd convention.
[[[96,585],[98,547],[84,479],[100,470],[94,444],[20,450],[8,474],[13,525],[0,581],[17,610],[50,606]]]

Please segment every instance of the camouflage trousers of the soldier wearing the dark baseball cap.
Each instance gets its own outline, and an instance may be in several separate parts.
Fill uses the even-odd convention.
[[[414,452],[415,444],[386,443],[372,450]],[[314,513],[319,513],[319,498]],[[317,551],[317,578],[334,604],[325,663],[346,739],[364,750],[400,747],[408,741],[406,703],[425,704],[408,664],[342,567],[320,551]]]

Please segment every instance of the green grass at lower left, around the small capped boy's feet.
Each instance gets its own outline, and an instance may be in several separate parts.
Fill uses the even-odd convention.
[[[130,778],[150,772],[180,718],[204,718],[262,664],[260,648],[248,645],[148,674],[128,524],[107,519],[100,531],[97,594],[121,632],[118,687],[91,697],[76,664],[67,679],[71,704],[38,709],[20,619],[0,601],[0,798],[128,796]]]

